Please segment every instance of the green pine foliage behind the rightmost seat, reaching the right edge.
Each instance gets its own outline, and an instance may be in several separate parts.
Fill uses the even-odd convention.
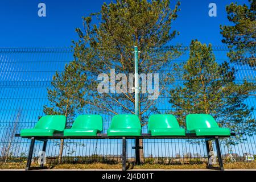
[[[176,69],[181,72],[177,79],[184,82],[170,90],[170,103],[180,122],[185,121],[185,115],[205,113],[241,135],[255,133],[253,107],[245,104],[255,85],[235,82],[235,69],[227,62],[217,64],[211,45],[193,40],[188,61]]]

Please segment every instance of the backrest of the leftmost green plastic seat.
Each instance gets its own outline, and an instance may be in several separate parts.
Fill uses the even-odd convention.
[[[35,129],[53,129],[63,131],[66,127],[65,115],[46,115],[39,119]]]

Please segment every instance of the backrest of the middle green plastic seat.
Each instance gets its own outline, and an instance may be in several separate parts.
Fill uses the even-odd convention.
[[[141,122],[137,115],[119,114],[112,118],[110,129],[141,129]]]

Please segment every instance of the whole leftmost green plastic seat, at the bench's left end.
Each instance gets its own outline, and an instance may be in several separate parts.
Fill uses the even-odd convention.
[[[21,137],[53,137],[65,129],[66,117],[64,115],[46,115],[39,119],[34,129],[23,129]]]

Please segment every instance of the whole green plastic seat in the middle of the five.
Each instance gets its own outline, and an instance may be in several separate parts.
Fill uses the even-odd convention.
[[[141,136],[141,122],[139,121],[139,117],[133,114],[115,115],[112,118],[107,135],[109,137]]]

